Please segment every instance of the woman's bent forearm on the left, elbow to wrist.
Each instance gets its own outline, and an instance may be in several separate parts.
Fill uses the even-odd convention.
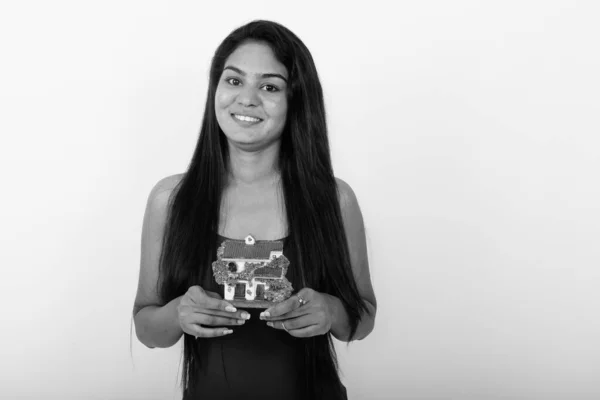
[[[171,347],[179,341],[183,334],[177,313],[180,299],[177,297],[164,306],[147,306],[135,314],[135,331],[140,342],[154,348]]]

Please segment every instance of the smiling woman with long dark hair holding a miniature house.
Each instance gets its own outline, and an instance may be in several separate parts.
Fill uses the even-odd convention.
[[[217,247],[282,240],[296,293],[236,309],[212,276]],[[211,64],[185,174],[162,179],[144,216],[134,305],[139,340],[184,337],[184,399],[345,399],[331,336],[366,337],[376,302],[361,212],[333,175],[321,85],[285,27],[233,31]],[[262,312],[261,312],[262,311]]]

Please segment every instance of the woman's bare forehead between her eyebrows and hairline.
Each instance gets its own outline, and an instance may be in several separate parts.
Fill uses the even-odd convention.
[[[285,66],[275,58],[271,48],[262,42],[245,42],[225,61],[225,66],[232,65],[247,74],[278,73],[288,77]]]

